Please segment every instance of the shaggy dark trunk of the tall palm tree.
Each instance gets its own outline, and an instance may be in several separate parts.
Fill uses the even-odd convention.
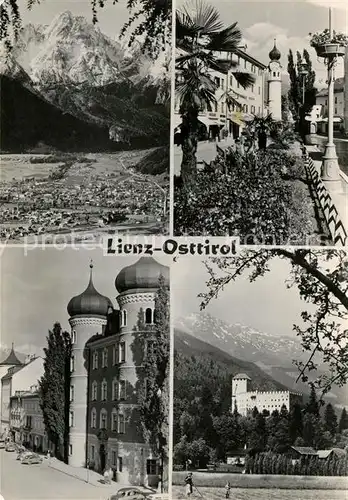
[[[198,109],[183,113],[181,127],[181,178],[184,187],[188,187],[197,175],[198,128]]]

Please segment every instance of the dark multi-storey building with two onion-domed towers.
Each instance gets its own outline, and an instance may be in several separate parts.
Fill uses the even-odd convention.
[[[159,458],[140,430],[138,394],[146,390],[142,361],[151,347],[160,276],[169,268],[142,257],[116,277],[115,309],[94,287],[68,304],[72,356],[69,463],[103,472],[120,483],[152,486]]]

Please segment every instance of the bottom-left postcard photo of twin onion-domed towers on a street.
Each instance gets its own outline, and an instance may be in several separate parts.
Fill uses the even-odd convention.
[[[166,259],[12,247],[1,268],[1,495],[167,499]]]

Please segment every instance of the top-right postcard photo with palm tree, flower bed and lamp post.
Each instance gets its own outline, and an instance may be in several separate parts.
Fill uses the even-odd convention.
[[[348,234],[346,2],[178,0],[174,234]]]

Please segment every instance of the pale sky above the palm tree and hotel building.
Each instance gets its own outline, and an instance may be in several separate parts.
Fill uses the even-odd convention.
[[[177,6],[195,1],[177,1]],[[306,48],[312,58],[314,69],[321,83],[326,81],[325,66],[317,60],[316,53],[309,45],[309,33],[322,31],[328,27],[328,6],[333,7],[333,27],[336,31],[347,33],[347,0],[214,0],[210,2],[221,14],[226,25],[238,22],[247,52],[264,64],[268,64],[268,53],[273,47],[273,39],[281,51],[281,64],[287,71],[287,54],[302,52]],[[340,58],[342,59],[342,58]],[[343,61],[337,67],[336,76],[343,76]]]

